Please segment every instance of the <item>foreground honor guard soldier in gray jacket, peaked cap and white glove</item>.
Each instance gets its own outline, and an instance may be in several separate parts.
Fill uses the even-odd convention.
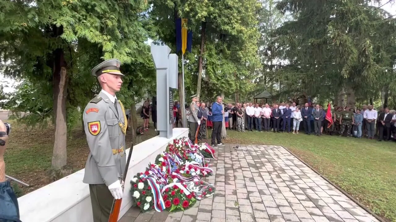
[[[89,184],[94,222],[107,222],[113,198],[122,198],[120,178],[126,165],[124,106],[116,97],[124,75],[121,62],[109,59],[91,70],[101,92],[84,109],[84,128],[89,146],[83,182]]]

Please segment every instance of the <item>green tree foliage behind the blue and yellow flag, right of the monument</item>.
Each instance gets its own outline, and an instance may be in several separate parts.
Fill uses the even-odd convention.
[[[156,42],[175,50],[175,18],[187,18],[193,31],[192,53],[185,54],[186,96],[196,93],[201,29],[206,24],[201,99],[213,101],[221,91],[226,97],[253,88],[253,75],[260,66],[257,0],[150,1],[150,17],[156,27]],[[179,58],[181,55],[179,54]],[[181,71],[181,64],[179,64]]]

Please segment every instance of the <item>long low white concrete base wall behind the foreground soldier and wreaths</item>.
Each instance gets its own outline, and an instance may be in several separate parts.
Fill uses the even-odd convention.
[[[173,137],[153,137],[133,147],[125,181],[120,219],[132,206],[131,178],[143,172],[148,164],[154,163],[158,154],[165,151],[173,139],[188,137],[188,128],[173,129]],[[128,156],[130,149],[126,150]],[[18,198],[21,221],[23,222],[92,222],[91,199],[88,184],[84,184],[84,169],[59,179],[47,186]]]

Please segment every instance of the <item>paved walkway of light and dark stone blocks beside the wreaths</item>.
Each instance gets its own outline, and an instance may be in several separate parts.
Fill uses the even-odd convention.
[[[214,196],[185,212],[131,208],[120,222],[378,222],[283,147],[230,148],[216,149],[210,162]]]

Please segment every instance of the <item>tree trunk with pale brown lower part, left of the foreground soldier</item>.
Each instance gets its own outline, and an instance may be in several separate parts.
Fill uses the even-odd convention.
[[[56,28],[57,31],[63,32]],[[55,170],[67,164],[67,69],[63,49],[56,49],[53,67],[53,110],[55,116],[55,142],[53,145],[51,166]]]

